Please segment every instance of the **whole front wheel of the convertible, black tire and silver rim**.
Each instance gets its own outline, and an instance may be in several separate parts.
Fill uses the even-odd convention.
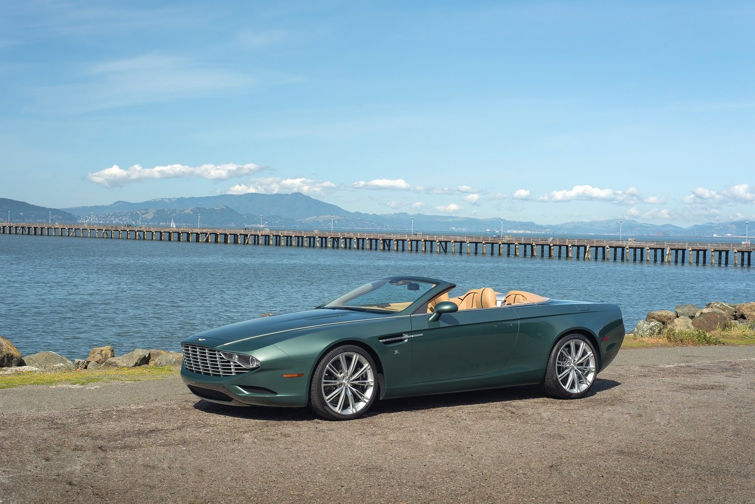
[[[310,408],[324,419],[359,418],[374,403],[377,389],[377,368],[371,356],[359,346],[338,346],[315,367]]]

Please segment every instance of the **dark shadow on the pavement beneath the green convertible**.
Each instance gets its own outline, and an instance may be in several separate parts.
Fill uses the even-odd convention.
[[[592,397],[600,392],[620,386],[615,380],[596,379],[595,385],[585,397]],[[476,404],[492,404],[501,402],[522,401],[525,399],[549,398],[545,395],[541,386],[528,385],[506,387],[502,389],[485,389],[473,392],[452,392],[448,394],[422,395],[411,398],[385,399],[377,401],[368,413],[361,418],[397,413],[400,411],[433,410],[436,408],[472,406]],[[559,399],[553,399],[559,401]],[[319,420],[307,407],[264,407],[249,406],[238,407],[226,404],[216,404],[209,401],[199,400],[194,408],[205,413],[213,413],[233,418],[245,418],[256,420],[270,420],[277,422],[311,422]]]

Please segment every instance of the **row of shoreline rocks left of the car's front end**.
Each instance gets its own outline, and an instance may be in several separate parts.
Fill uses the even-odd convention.
[[[135,349],[116,357],[112,346],[97,346],[91,349],[85,359],[71,361],[55,352],[38,352],[21,356],[13,343],[0,336],[0,368],[15,368],[14,370],[106,370],[138,366],[180,366],[183,356],[180,352],[170,352],[161,349]]]

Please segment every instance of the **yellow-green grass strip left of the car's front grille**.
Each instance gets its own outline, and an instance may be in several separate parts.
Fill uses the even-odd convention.
[[[0,375],[0,389],[24,385],[87,385],[96,382],[136,382],[177,376],[177,367],[125,367],[106,370],[21,371]]]

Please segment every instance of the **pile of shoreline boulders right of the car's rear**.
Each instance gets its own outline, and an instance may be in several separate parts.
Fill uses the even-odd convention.
[[[638,321],[630,334],[638,338],[654,337],[665,329],[713,333],[732,326],[755,330],[755,302],[732,304],[713,301],[704,307],[688,304],[676,305],[673,310],[655,310],[645,320]]]

